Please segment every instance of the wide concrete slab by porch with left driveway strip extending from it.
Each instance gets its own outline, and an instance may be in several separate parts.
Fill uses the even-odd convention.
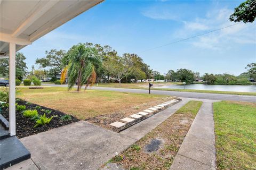
[[[20,139],[31,159],[12,169],[98,169],[149,131],[161,124],[190,99],[147,118],[129,129],[116,133],[89,122],[79,121],[57,129]]]

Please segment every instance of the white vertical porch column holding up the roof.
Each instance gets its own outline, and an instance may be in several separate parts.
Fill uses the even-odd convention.
[[[9,133],[16,134],[15,114],[15,43],[9,44]]]

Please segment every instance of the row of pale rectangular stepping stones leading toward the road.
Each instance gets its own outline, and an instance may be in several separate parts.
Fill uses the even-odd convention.
[[[157,106],[150,107],[150,108],[148,108],[148,109],[146,109],[146,110],[144,110],[144,111],[142,111],[142,112],[138,112],[137,114],[132,114],[132,115],[130,115],[129,117],[122,118],[121,121],[127,122],[127,123],[133,122],[133,121],[135,121],[136,119],[138,119],[138,118],[140,118],[140,117],[142,117],[142,116],[146,116],[146,115],[148,115],[149,113],[152,113],[152,112],[154,112],[154,111],[157,111],[158,109],[161,109],[161,108],[163,108],[163,107],[166,107],[166,106],[168,106],[168,105],[170,105],[170,104],[176,103],[177,101],[179,101],[179,100],[177,100],[177,99],[172,99],[172,100],[170,100],[170,101],[166,101],[165,103],[159,104],[159,105],[157,105]],[[130,118],[130,117],[132,117],[132,118]],[[135,119],[134,119],[134,118],[135,118]],[[146,118],[147,118],[147,117],[146,117]],[[139,122],[140,122],[140,121],[139,121]],[[136,122],[136,123],[138,123],[138,122]],[[118,121],[117,121],[117,122],[111,123],[110,125],[111,125],[111,126],[114,126],[114,127],[116,127],[116,128],[121,128],[122,126],[126,125],[126,123],[122,123],[122,122],[118,122]],[[133,125],[133,124],[131,124],[131,125]],[[127,128],[127,127],[126,127],[126,128]],[[152,141],[152,142],[151,142],[151,145],[154,145],[155,143],[157,143],[157,145],[159,145],[159,143],[158,143],[157,140]],[[149,146],[150,146],[150,145],[149,145]],[[149,149],[149,150],[152,150],[152,149]],[[153,149],[153,150],[154,150],[154,149]]]

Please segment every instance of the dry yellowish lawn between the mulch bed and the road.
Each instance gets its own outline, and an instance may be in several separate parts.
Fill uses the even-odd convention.
[[[134,94],[127,92],[86,90],[79,93],[62,87],[44,89],[20,88],[20,97],[31,103],[56,109],[85,120],[87,118],[114,114],[124,109],[140,111],[150,103],[163,103],[166,96]],[[123,117],[122,117],[123,118]]]

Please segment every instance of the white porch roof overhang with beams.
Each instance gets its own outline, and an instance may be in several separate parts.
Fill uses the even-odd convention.
[[[102,1],[0,0],[0,58],[9,55],[9,43],[18,51]]]

